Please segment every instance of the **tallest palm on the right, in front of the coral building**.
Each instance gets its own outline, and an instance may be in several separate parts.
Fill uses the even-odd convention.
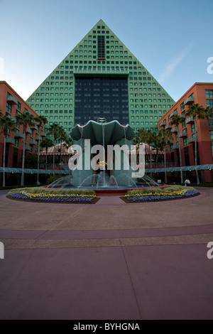
[[[186,117],[193,117],[195,122],[195,171],[197,178],[197,185],[200,184],[200,179],[197,171],[197,119],[205,119],[208,117],[207,115],[208,109],[204,109],[204,107],[200,106],[200,104],[192,103],[190,107],[187,109],[185,114]]]

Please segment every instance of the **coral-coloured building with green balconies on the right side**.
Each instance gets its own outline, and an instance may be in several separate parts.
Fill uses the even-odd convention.
[[[170,129],[173,133],[173,144],[169,145],[166,150],[168,161],[175,163],[175,166],[180,166],[178,130],[182,166],[195,166],[195,122],[192,117],[185,118],[187,109],[192,103],[200,104],[204,108],[213,107],[213,83],[195,82],[158,122],[158,129]],[[174,114],[185,118],[185,121],[179,125],[179,129],[176,126],[170,126]],[[197,119],[197,165],[212,164],[212,156],[213,119],[209,121]],[[200,178],[201,181],[212,182],[212,171],[200,171]]]

